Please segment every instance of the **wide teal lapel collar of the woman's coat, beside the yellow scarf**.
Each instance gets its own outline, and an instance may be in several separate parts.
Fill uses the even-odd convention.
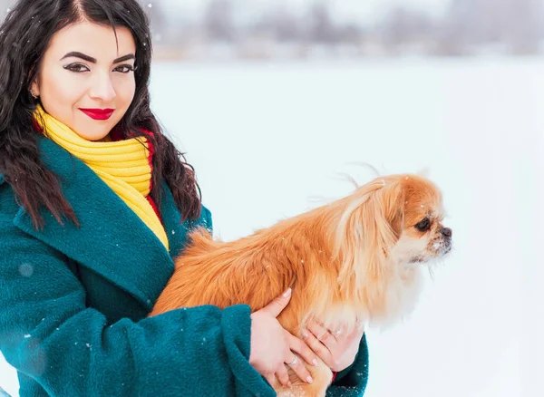
[[[43,137],[39,147],[45,167],[60,178],[80,228],[69,220],[62,226],[44,211],[45,227],[35,230],[23,208],[15,216],[15,226],[111,280],[151,311],[174,270],[172,257],[180,252],[191,227],[189,221],[180,224],[168,186],[164,184],[160,214],[170,252],[83,161]],[[2,179],[0,175],[0,183]]]

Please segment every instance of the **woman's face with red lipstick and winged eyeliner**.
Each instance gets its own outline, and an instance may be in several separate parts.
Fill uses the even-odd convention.
[[[136,44],[131,31],[82,22],[53,35],[32,84],[44,110],[85,140],[105,140],[131,105]]]

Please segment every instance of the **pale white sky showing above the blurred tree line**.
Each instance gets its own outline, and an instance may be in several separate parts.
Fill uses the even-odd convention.
[[[251,4],[251,8],[267,8],[277,4],[289,4],[293,9],[304,9],[315,0],[238,0]],[[451,0],[329,0],[335,14],[344,20],[373,22],[374,19],[393,5],[413,6],[432,15],[440,15]],[[153,1],[150,1],[151,5]],[[169,8],[178,8],[189,14],[199,13],[207,4],[206,0],[162,0]]]

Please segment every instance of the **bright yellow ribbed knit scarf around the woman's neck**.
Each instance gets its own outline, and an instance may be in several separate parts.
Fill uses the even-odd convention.
[[[166,232],[146,199],[151,189],[148,140],[144,137],[115,142],[85,140],[40,105],[34,119],[51,140],[92,169],[169,249]]]

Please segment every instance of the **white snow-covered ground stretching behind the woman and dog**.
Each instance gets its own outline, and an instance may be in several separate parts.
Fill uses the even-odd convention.
[[[454,251],[412,318],[368,332],[367,397],[544,390],[544,59],[163,63],[152,106],[198,172],[217,237],[384,173],[442,188]],[[294,291],[296,294],[296,291]],[[0,385],[16,394],[13,370]]]

